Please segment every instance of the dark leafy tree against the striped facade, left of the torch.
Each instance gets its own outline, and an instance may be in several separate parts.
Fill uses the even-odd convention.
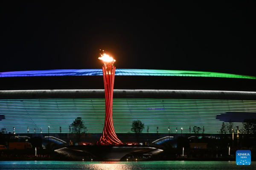
[[[72,133],[76,133],[76,139],[80,142],[81,133],[85,133],[87,127],[85,127],[84,122],[81,117],[77,117],[71,124]]]

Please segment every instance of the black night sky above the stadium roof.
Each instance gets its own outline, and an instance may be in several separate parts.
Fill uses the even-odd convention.
[[[0,72],[101,68],[256,76],[255,1],[0,2]],[[84,1],[85,2],[85,1]]]

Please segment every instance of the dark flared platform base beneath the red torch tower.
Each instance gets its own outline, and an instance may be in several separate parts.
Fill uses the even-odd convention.
[[[90,145],[90,146],[64,146],[55,152],[79,156],[89,153],[99,161],[120,161],[122,157],[132,153],[158,153],[163,150],[151,146],[127,146],[127,145]]]

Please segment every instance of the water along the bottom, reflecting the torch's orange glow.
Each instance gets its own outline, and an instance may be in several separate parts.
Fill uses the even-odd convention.
[[[0,170],[255,170],[251,165],[236,165],[235,161],[0,161]]]

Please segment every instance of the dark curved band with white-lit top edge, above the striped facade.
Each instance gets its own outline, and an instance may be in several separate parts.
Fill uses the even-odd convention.
[[[193,100],[243,100],[255,103],[256,92],[249,91],[199,91],[199,90],[127,90],[113,91],[118,99],[193,99]],[[105,99],[104,90],[20,90],[0,91],[0,104],[6,99]],[[256,111],[256,110],[255,110]]]

